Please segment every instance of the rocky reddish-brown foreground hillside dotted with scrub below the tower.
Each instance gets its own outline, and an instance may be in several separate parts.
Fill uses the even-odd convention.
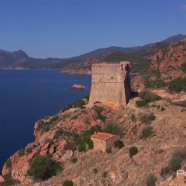
[[[138,100],[140,98],[131,100],[125,108],[107,102],[96,103],[88,109],[82,106],[83,102],[78,102],[73,106],[76,108],[67,108],[36,122],[35,141],[7,160],[2,171],[5,180],[18,179],[27,185],[36,182],[38,186],[56,186],[65,180],[82,186],[141,186],[149,182],[181,186],[184,180],[175,178],[174,174],[186,165],[185,109],[159,99],[139,108]],[[89,136],[101,129],[118,134],[124,147],[113,148],[108,153],[93,150]],[[137,151],[129,153],[131,147]],[[42,182],[41,177],[34,178],[36,173],[28,176],[27,171],[39,154],[52,158],[58,165],[62,163],[63,170]],[[37,163],[38,166],[45,164]],[[5,176],[8,174],[11,178]]]

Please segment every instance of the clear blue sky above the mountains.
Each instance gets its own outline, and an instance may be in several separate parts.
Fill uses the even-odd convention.
[[[0,49],[66,58],[186,35],[186,0],[0,0]]]

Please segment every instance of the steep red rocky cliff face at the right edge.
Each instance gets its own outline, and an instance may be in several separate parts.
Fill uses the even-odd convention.
[[[186,77],[186,39],[160,50],[152,57],[151,70],[158,71],[161,79],[170,82],[178,77]]]

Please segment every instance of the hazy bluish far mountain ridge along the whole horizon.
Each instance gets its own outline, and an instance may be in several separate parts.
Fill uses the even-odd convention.
[[[150,50],[152,47],[156,47],[158,44],[169,45],[175,43],[177,41],[186,38],[186,35],[178,34],[175,36],[171,36],[161,42],[150,43],[143,46],[134,46],[134,47],[117,47],[110,46],[106,48],[99,48],[88,53],[70,57],[70,58],[45,58],[38,59],[30,57],[23,50],[18,51],[7,51],[0,49],[0,69],[63,69],[67,67],[69,64],[77,64],[87,61],[89,58],[101,58],[103,60],[103,56],[107,55],[110,52],[122,52],[124,55],[129,56],[127,58],[131,58],[130,55],[135,54],[136,58],[143,58],[144,50]],[[142,52],[142,53],[140,53]],[[125,59],[125,58],[124,58]],[[137,60],[134,61],[134,63]]]

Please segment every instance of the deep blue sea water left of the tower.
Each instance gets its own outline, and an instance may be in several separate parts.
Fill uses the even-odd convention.
[[[37,120],[89,94],[90,79],[55,70],[0,70],[0,170],[11,154],[34,140]],[[87,89],[69,89],[73,84]]]

